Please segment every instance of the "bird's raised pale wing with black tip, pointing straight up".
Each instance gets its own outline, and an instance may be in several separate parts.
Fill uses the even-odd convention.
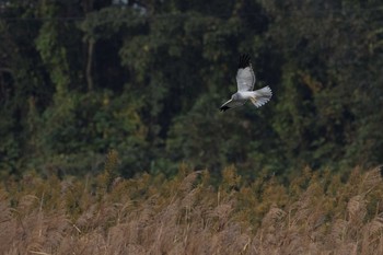
[[[236,86],[239,91],[252,91],[255,83],[255,74],[247,54],[241,55],[239,70],[236,72]]]

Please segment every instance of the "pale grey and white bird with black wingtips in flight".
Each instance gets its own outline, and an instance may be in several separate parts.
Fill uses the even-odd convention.
[[[260,90],[253,91],[254,83],[255,74],[251,63],[251,58],[247,54],[241,55],[239,70],[236,72],[237,92],[231,96],[231,100],[220,107],[220,111],[224,112],[230,108],[242,106],[248,100],[255,105],[255,107],[260,107],[269,102],[272,95],[271,89],[267,85]]]

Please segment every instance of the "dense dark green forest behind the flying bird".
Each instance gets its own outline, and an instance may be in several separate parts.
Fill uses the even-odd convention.
[[[239,56],[271,101],[221,113]],[[379,0],[0,1],[0,176],[341,172],[383,157]]]

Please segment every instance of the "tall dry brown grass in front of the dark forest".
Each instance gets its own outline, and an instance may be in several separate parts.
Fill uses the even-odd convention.
[[[8,179],[0,189],[0,254],[383,254],[380,169],[304,170],[289,187],[219,188],[207,171],[131,179]]]

